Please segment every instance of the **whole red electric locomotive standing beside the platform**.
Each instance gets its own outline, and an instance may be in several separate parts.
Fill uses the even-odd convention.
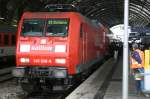
[[[78,12],[26,12],[13,74],[27,91],[71,85],[107,53],[105,34],[101,24]]]

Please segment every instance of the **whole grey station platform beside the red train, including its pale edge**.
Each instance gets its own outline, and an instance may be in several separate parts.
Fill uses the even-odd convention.
[[[114,59],[108,60],[103,64],[103,67],[100,67],[65,99],[122,99],[122,57],[117,61]],[[108,77],[111,78],[108,79]],[[107,85],[104,84],[106,80],[108,86],[103,88]],[[144,94],[136,93],[135,80],[130,75],[128,92],[128,99],[149,99]]]

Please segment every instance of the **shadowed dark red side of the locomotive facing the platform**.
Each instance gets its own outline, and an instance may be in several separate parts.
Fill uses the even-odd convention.
[[[89,20],[84,19],[80,24],[79,33],[79,64],[77,71],[84,72],[92,68],[92,65],[100,61],[105,55],[104,28],[95,26]]]

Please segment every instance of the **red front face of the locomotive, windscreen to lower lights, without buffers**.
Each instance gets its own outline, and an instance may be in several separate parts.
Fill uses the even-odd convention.
[[[53,76],[66,71],[68,22],[68,19],[24,19],[17,43],[17,71],[24,68],[25,74],[40,75],[43,71],[40,68],[44,68]]]

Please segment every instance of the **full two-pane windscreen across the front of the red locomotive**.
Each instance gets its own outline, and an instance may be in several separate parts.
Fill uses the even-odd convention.
[[[22,26],[22,36],[67,36],[68,19],[26,19]],[[45,31],[45,32],[44,32]]]

